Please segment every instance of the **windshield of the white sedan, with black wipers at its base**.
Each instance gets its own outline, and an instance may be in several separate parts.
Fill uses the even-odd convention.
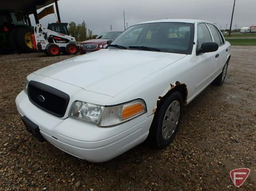
[[[194,24],[178,22],[146,23],[129,27],[108,45],[108,49],[125,47],[131,50],[191,54]]]

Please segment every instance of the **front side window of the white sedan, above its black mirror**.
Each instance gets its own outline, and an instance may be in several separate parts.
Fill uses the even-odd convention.
[[[204,42],[211,42],[211,34],[205,25],[205,23],[198,24],[197,28],[197,48],[200,48],[202,43]]]

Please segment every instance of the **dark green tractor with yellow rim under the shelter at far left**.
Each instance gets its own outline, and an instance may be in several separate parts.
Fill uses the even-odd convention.
[[[0,53],[34,52],[33,34],[28,15],[21,11],[0,10]]]

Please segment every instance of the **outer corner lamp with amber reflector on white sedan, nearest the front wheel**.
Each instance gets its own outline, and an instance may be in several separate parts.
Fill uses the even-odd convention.
[[[143,100],[134,100],[117,106],[105,107],[101,115],[99,126],[114,126],[134,119],[146,112],[146,104]]]

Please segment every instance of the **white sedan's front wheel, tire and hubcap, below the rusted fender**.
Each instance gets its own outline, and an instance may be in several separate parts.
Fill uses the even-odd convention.
[[[168,146],[175,138],[182,117],[182,95],[175,91],[165,100],[155,113],[148,140],[157,148]]]

